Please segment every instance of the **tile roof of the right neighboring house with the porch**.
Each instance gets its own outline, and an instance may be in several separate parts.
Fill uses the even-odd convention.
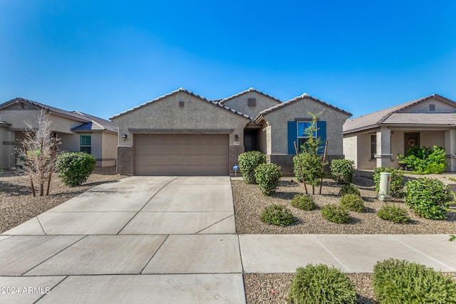
[[[343,133],[351,133],[351,132],[369,130],[369,129],[378,127],[379,125],[381,125],[383,123],[393,123],[393,124],[395,124],[395,123],[397,123],[397,124],[415,123],[415,122],[411,122],[411,120],[415,120],[413,118],[413,115],[416,115],[417,113],[413,113],[413,115],[395,115],[394,117],[391,117],[391,116],[393,116],[393,114],[406,110],[410,107],[413,107],[414,105],[418,105],[419,103],[423,103],[426,100],[430,100],[432,98],[438,98],[439,100],[442,100],[445,103],[449,103],[450,105],[455,106],[455,110],[456,110],[456,103],[454,101],[452,101],[448,98],[445,98],[443,96],[437,95],[437,94],[432,94],[432,95],[426,96],[424,98],[418,98],[415,100],[411,100],[407,103],[402,103],[400,105],[395,105],[390,108],[386,108],[383,110],[372,112],[367,115],[355,117],[351,120],[347,120],[343,124]],[[401,114],[406,114],[406,113],[401,113]],[[444,115],[438,115],[440,113],[429,113],[429,114],[430,115],[427,115],[425,120],[430,120],[429,123],[431,123],[433,121],[432,122],[433,124],[438,123],[437,121],[442,120],[443,119],[442,117],[444,116]],[[391,119],[389,117],[391,117]],[[410,119],[409,122],[404,122],[406,118]],[[390,119],[389,122],[387,122],[388,119]],[[423,116],[421,116],[421,119],[423,119]],[[445,121],[447,121],[447,117],[445,118]],[[416,122],[416,123],[418,123],[418,122]],[[423,123],[423,120],[421,120],[420,123]],[[445,123],[444,123],[444,125],[445,125]]]

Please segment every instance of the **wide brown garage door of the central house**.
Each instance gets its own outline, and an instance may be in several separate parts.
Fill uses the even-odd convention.
[[[226,175],[229,135],[135,135],[135,175]]]

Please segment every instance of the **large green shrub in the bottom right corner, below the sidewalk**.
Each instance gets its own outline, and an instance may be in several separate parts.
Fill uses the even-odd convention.
[[[434,269],[389,258],[373,266],[379,303],[456,303],[456,283]]]

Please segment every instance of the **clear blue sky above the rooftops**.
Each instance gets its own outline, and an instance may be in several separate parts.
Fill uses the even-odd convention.
[[[108,118],[177,88],[353,113],[456,101],[456,1],[0,0],[0,103]]]

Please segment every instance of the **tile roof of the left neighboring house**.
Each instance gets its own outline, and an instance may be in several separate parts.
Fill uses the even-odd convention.
[[[7,108],[10,105],[13,105],[14,103],[24,103],[39,110],[46,110],[48,112],[53,112],[58,115],[63,115],[73,120],[82,122],[82,125],[73,128],[73,130],[78,130],[80,128],[80,130],[109,130],[113,132],[118,132],[118,127],[109,120],[103,120],[103,118],[84,114],[78,111],[69,112],[66,110],[61,110],[58,108],[51,107],[50,105],[44,105],[43,103],[37,103],[36,101],[28,100],[26,98],[14,98],[12,100],[7,101],[6,103],[2,103],[0,105],[0,110],[3,108]]]

